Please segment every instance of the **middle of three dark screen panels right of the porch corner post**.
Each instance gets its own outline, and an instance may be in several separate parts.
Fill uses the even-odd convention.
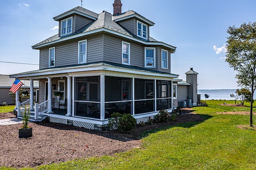
[[[154,80],[135,79],[135,113],[149,113],[155,110]]]

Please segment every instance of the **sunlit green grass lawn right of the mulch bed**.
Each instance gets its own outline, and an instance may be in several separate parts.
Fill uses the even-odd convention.
[[[194,107],[195,113],[206,117],[204,122],[180,124],[151,133],[142,139],[141,148],[36,169],[254,170],[256,131],[238,128],[238,125],[249,125],[249,115],[216,114],[249,111],[250,107],[218,105],[224,102],[234,104],[234,101],[207,101],[208,107]],[[256,125],[256,117],[253,119]]]

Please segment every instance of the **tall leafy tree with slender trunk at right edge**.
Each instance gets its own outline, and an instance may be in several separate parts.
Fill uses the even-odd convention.
[[[228,28],[226,62],[236,71],[238,86],[250,89],[250,126],[252,103],[256,88],[256,22],[243,23],[239,28]]]

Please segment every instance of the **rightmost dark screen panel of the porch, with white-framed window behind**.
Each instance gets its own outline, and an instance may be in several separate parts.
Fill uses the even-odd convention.
[[[171,81],[157,81],[157,111],[172,108]]]

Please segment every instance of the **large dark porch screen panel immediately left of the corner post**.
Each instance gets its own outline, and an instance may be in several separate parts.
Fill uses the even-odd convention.
[[[74,116],[100,119],[100,76],[74,78]]]

